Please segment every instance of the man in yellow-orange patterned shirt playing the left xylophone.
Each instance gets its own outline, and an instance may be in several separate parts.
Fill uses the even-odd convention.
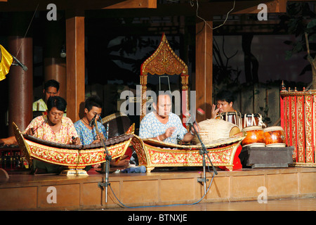
[[[80,139],[72,120],[64,117],[67,102],[59,96],[52,96],[47,101],[47,115],[34,118],[25,129],[25,133],[45,141],[64,144],[80,144]],[[32,171],[46,169],[48,173],[58,173],[63,169],[60,165],[33,160]]]

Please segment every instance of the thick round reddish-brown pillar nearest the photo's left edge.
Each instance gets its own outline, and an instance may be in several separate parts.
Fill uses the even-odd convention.
[[[21,131],[25,130],[32,120],[33,103],[33,39],[24,37],[27,30],[25,21],[27,13],[14,13],[12,16],[11,34],[8,36],[8,51],[27,66],[27,71],[20,66],[11,65],[8,77],[8,135],[13,136],[12,122]],[[19,51],[20,49],[20,51]],[[18,53],[18,55],[17,55]]]

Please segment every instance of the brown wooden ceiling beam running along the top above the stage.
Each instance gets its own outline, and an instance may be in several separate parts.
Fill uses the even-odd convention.
[[[288,0],[242,0],[235,1],[235,9],[232,13],[258,13],[258,4],[267,4],[268,12],[282,13],[286,10]],[[291,0],[290,0],[291,1]],[[302,1],[302,0],[301,0]],[[157,15],[192,15],[196,13],[197,3],[199,13],[204,18],[212,15],[225,14],[234,5],[234,1],[223,0],[0,0],[0,12],[8,11],[47,11],[48,4],[55,4],[58,10],[100,10],[117,9],[124,10],[136,9],[135,13],[153,13]],[[192,5],[193,4],[193,5]],[[143,9],[137,11],[137,9]],[[147,10],[144,10],[147,9]],[[152,10],[154,9],[154,10]],[[131,11],[129,10],[129,13]],[[116,13],[119,13],[117,11]],[[126,13],[124,13],[126,14]],[[127,13],[128,14],[128,13]],[[120,16],[120,15],[119,15]]]

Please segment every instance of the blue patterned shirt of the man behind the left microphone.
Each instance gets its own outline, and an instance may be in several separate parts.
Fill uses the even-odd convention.
[[[98,131],[103,134],[105,139],[107,139],[107,131],[105,127],[100,122],[98,123]],[[74,128],[77,131],[79,139],[83,145],[91,144],[93,141],[97,140],[98,133],[96,132],[96,126],[93,129],[88,129],[81,120],[74,123]]]

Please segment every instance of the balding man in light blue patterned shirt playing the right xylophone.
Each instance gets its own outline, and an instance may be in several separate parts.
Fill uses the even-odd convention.
[[[140,122],[139,136],[141,139],[156,139],[167,143],[192,141],[195,136],[193,127],[190,132],[183,127],[178,115],[171,113],[171,96],[166,92],[157,96],[157,103],[153,103],[154,111],[145,115]],[[195,124],[197,130],[197,125]]]

